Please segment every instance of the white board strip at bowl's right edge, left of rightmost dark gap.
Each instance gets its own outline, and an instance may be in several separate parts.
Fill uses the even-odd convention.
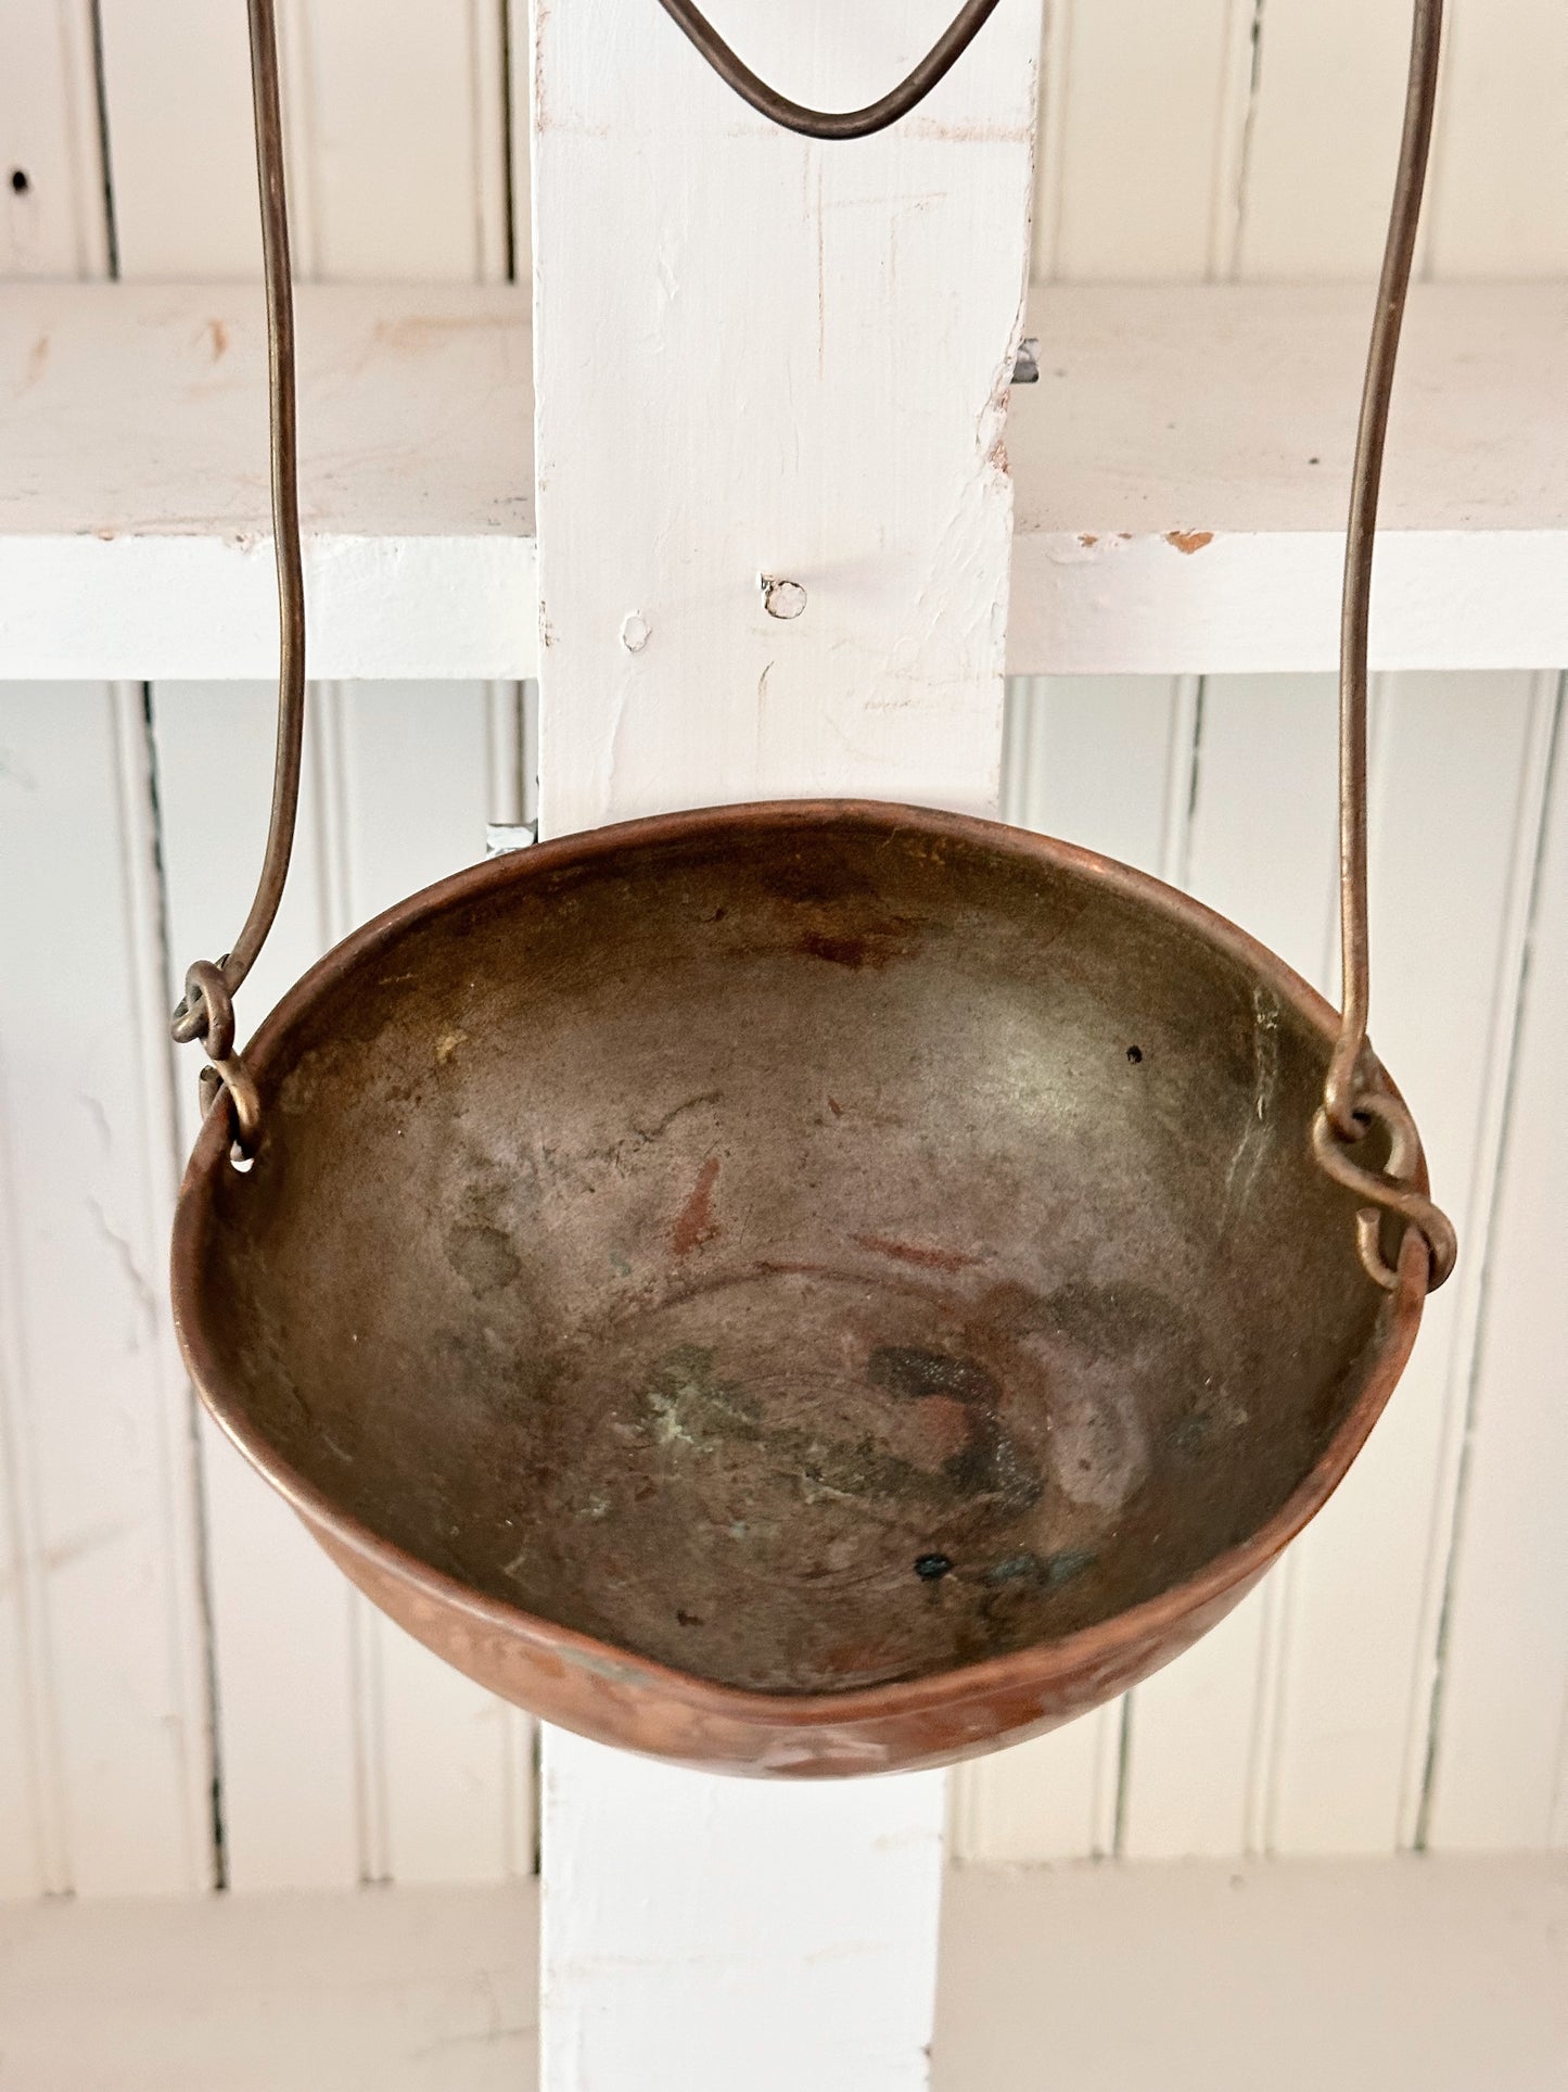
[[[1380,692],[1371,1038],[1474,1264],[1428,1303],[1405,1379],[1296,1542],[1269,1843],[1409,1843],[1426,1768],[1443,1563],[1549,709],[1524,676],[1403,676]]]

